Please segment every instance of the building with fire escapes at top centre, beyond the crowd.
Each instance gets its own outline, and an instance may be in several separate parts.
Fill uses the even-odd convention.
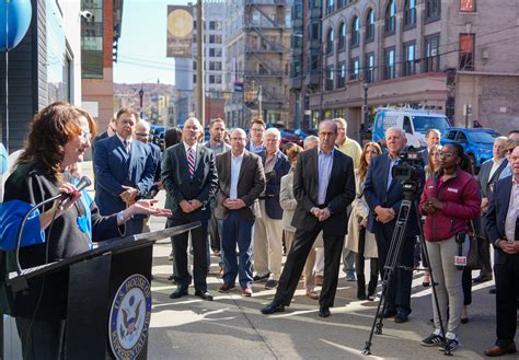
[[[289,117],[291,0],[228,0],[229,126],[253,117],[292,125]]]

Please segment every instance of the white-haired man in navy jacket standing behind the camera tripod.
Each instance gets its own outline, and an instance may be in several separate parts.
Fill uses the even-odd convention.
[[[388,154],[381,154],[371,160],[365,184],[365,197],[369,206],[368,230],[374,233],[379,251],[379,268],[383,276],[385,259],[391,246],[396,217],[404,199],[402,184],[393,178],[392,169],[400,162],[400,152],[407,142],[401,128],[385,130]],[[424,181],[422,181],[422,186]],[[418,194],[422,193],[422,188]],[[416,235],[419,234],[419,223],[415,210],[408,218],[405,239],[402,246],[400,266],[395,269],[388,286],[387,307],[384,317],[395,316],[395,323],[405,323],[411,313],[411,282],[413,277],[413,252]]]

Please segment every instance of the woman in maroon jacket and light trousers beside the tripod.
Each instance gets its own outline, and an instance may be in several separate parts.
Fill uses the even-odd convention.
[[[463,306],[462,275],[463,259],[466,265],[469,220],[480,213],[477,183],[471,174],[460,169],[465,158],[459,143],[446,144],[440,152],[440,169],[431,175],[425,186],[418,209],[426,216],[424,236],[427,241],[432,279],[441,320],[447,320],[447,347],[453,351],[458,347],[457,330]],[[432,297],[435,330],[423,339],[423,346],[440,346],[443,334]],[[449,312],[449,314],[447,314]]]

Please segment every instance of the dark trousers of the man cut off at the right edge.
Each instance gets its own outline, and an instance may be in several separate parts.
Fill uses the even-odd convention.
[[[517,328],[519,298],[519,254],[507,255],[505,264],[494,265],[496,280],[496,345],[508,346]]]

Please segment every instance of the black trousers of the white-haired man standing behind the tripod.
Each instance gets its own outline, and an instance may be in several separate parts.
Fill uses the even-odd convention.
[[[384,278],[384,265],[388,258],[388,252],[393,236],[394,222],[377,227],[374,237],[379,251],[380,276]],[[388,283],[385,299],[387,309],[403,310],[411,313],[411,282],[413,280],[413,254],[416,243],[416,236],[406,236],[403,239],[402,254],[396,264],[395,271]],[[404,269],[406,267],[407,269]]]

